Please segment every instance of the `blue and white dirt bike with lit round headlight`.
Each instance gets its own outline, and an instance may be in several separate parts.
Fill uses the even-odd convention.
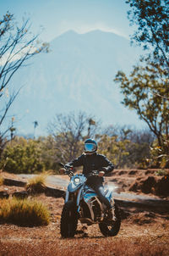
[[[61,165],[61,164],[60,164]],[[105,237],[114,237],[120,230],[121,218],[112,191],[105,189],[106,198],[112,203],[112,220],[107,220],[106,205],[101,203],[95,191],[87,186],[83,174],[74,175],[73,167],[64,167],[64,174],[70,177],[60,222],[60,233],[64,238],[74,237],[78,220],[82,224],[98,224]],[[90,175],[98,176],[98,171]],[[88,175],[88,177],[90,176]]]

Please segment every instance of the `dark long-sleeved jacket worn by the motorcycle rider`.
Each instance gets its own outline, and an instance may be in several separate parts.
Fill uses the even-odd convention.
[[[68,164],[74,167],[83,166],[84,175],[88,175],[92,170],[104,170],[105,173],[109,173],[114,169],[112,162],[106,159],[106,156],[99,153],[84,153],[78,159],[74,159]]]

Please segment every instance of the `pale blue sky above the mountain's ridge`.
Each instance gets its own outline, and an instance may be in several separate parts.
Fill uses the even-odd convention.
[[[43,27],[41,39],[46,42],[68,30],[100,29],[125,37],[132,33],[125,0],[0,0],[1,17],[7,11],[17,21],[29,17],[34,33]]]

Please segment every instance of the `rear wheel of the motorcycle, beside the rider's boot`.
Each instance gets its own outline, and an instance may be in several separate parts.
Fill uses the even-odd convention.
[[[120,218],[120,212],[119,212],[116,204],[115,204],[115,215],[116,215],[117,220],[113,221],[113,223],[111,225],[107,224],[104,221],[99,224],[99,228],[100,228],[100,231],[103,234],[103,236],[105,236],[105,237],[117,236],[117,233],[120,230],[121,218]]]

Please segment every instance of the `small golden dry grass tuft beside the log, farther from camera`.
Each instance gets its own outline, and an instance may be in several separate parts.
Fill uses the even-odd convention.
[[[27,191],[33,194],[44,192],[46,189],[46,176],[47,173],[42,173],[30,178],[26,185]]]

